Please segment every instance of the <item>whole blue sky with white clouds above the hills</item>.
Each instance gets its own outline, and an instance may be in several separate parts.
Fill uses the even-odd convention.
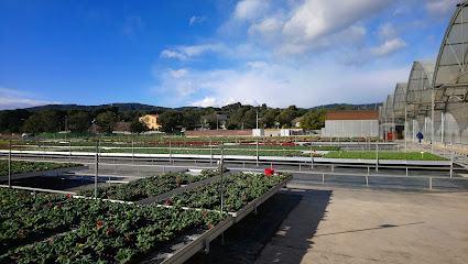
[[[383,101],[457,2],[0,0],[0,110]]]

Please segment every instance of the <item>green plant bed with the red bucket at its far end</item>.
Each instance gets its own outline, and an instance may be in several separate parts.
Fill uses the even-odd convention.
[[[238,211],[291,176],[290,173],[274,175],[237,173],[225,176],[222,180],[224,211]],[[168,199],[156,201],[156,204],[220,210],[220,194],[221,180],[217,179],[210,184],[202,184],[182,194],[175,194]]]

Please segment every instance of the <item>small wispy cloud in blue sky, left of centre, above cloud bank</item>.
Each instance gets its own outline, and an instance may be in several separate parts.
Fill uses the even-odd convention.
[[[164,50],[161,52],[161,57],[178,58],[186,61],[195,56],[199,56],[207,52],[221,52],[226,50],[224,44],[203,44],[191,46],[177,46],[173,50]]]

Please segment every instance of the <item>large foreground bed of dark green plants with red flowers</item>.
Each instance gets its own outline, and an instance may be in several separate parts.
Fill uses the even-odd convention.
[[[3,221],[1,226],[0,242],[7,252],[0,255],[0,263],[141,262],[173,243],[174,239],[199,232],[197,230],[210,233],[225,219],[231,218],[209,210],[138,207],[11,189],[1,189],[1,199],[2,205],[12,204],[0,209],[2,220],[12,221]],[[19,212],[11,210],[13,206],[20,208]],[[33,213],[31,210],[34,209],[30,208],[40,212]],[[78,215],[75,220],[74,213]],[[36,216],[48,218],[42,222],[50,224],[54,232],[50,231],[50,237],[44,233],[41,242],[19,244],[25,238],[32,238],[30,234],[40,226],[30,224]],[[62,228],[54,224],[59,220],[65,223]]]

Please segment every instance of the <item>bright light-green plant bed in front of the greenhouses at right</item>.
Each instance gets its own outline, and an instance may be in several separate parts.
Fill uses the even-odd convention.
[[[376,152],[329,152],[324,157],[376,160],[377,154]],[[379,152],[379,160],[447,161],[445,157],[421,152]]]

